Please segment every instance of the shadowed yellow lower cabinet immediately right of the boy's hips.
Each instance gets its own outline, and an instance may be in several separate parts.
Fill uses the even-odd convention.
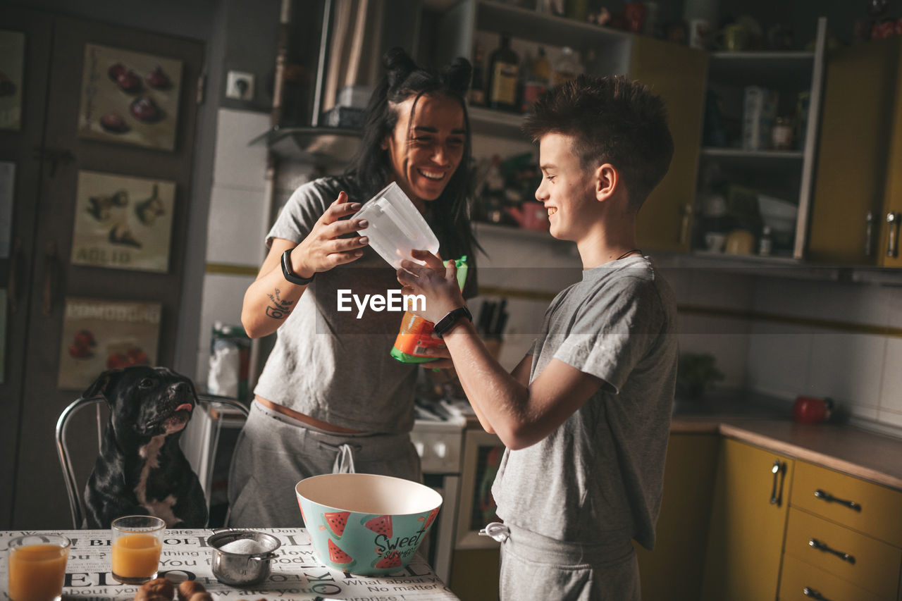
[[[642,598],[697,601],[717,466],[716,433],[673,433],[654,550],[635,544]]]

